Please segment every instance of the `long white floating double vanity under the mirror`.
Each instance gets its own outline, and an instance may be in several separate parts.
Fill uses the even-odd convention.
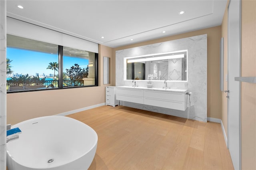
[[[187,108],[187,90],[153,89],[143,87],[116,87],[116,99],[144,105],[152,105],[185,111]]]

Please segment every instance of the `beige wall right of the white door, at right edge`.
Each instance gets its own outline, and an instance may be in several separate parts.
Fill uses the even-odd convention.
[[[256,76],[256,1],[242,0],[242,76]],[[256,169],[256,84],[241,85],[242,169]]]

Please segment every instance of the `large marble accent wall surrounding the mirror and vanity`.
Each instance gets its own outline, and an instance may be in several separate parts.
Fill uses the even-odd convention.
[[[207,122],[207,35],[199,35],[168,42],[144,45],[116,51],[116,86],[130,86],[132,80],[124,80],[124,58],[151,53],[188,50],[188,81],[167,81],[173,89],[188,89],[193,93],[194,105],[179,111],[137,103],[121,102],[121,105]],[[167,68],[168,69],[168,68]],[[136,80],[136,85],[147,87],[146,80]],[[164,87],[164,81],[153,81],[153,87]]]

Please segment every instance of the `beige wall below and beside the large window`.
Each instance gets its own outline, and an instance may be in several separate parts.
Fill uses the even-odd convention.
[[[99,86],[72,89],[56,89],[7,94],[7,124],[16,124],[35,117],[56,115],[92,105],[105,103],[103,85],[103,56],[110,57],[113,66],[112,48],[99,46]],[[111,70],[111,69],[110,69]],[[114,85],[113,70],[110,84]]]

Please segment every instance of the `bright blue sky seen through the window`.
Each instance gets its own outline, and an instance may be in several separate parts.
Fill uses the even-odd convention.
[[[14,71],[14,74],[36,75],[36,73],[39,73],[39,75],[42,75],[44,73],[45,75],[49,75],[54,73],[53,70],[46,69],[49,63],[58,63],[58,54],[49,54],[8,47],[6,55],[7,58],[12,60],[10,66],[12,66],[11,69]],[[70,69],[70,67],[75,63],[80,65],[81,68],[86,68],[88,65],[88,60],[64,56],[63,71],[66,72],[66,68]]]

